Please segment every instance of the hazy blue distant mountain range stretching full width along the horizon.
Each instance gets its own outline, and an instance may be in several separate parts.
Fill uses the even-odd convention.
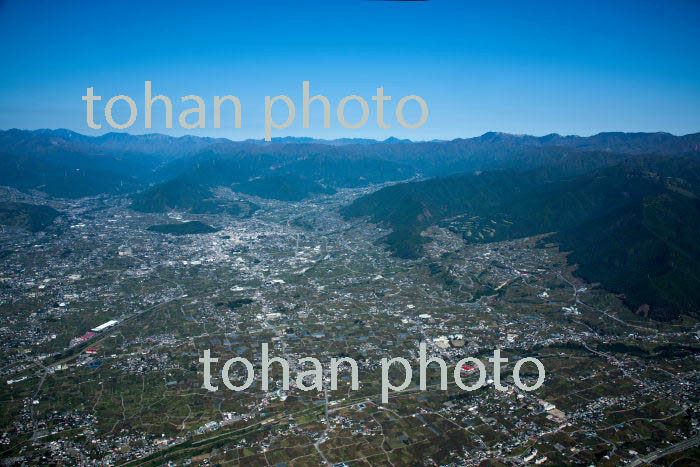
[[[230,186],[294,175],[332,188],[494,169],[549,165],[585,172],[630,154],[698,156],[700,134],[601,133],[543,137],[486,133],[476,138],[413,143],[389,138],[271,143],[68,130],[0,131],[0,183],[56,197],[137,191],[184,177],[189,183]]]

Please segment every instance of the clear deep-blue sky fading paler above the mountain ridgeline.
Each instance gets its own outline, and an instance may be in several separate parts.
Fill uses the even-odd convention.
[[[0,128],[110,131],[105,101],[132,96],[131,133],[262,138],[264,97],[297,103],[296,123],[275,135],[475,136],[486,131],[589,135],[600,131],[700,131],[700,1],[207,1],[0,0]],[[154,107],[143,120],[143,83],[175,104],[172,130]],[[301,83],[331,99],[331,128],[301,128]],[[81,96],[93,86],[102,130],[85,124]],[[389,130],[377,127],[378,86]],[[234,94],[243,128],[183,130],[180,96]],[[370,103],[361,129],[342,127],[335,105],[348,94]],[[404,129],[401,96],[430,106],[428,123]],[[122,103],[123,104],[123,103]],[[209,106],[211,110],[211,105]],[[348,107],[348,119],[356,112]],[[115,107],[115,118],[124,113]],[[407,115],[413,115],[407,107]],[[276,118],[283,120],[280,112]],[[226,116],[225,116],[226,118]]]

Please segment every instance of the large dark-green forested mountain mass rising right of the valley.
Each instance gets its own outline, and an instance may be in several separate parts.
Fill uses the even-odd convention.
[[[434,178],[379,190],[343,210],[392,228],[398,256],[441,225],[471,242],[555,233],[591,282],[658,319],[700,316],[700,161],[639,156],[584,174],[547,167]]]

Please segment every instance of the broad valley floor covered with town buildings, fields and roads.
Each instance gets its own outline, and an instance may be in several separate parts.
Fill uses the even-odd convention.
[[[91,198],[54,202],[68,214],[45,232],[5,229],[3,464],[612,466],[700,457],[698,323],[632,314],[576,279],[546,239],[468,244],[434,227],[424,258],[394,258],[378,243],[386,231],[338,215],[366,192],[255,199],[261,209],[248,218],[143,214],[123,199]],[[179,220],[219,230],[147,230]],[[402,356],[417,368],[421,341],[432,356],[478,357],[489,371],[487,357],[502,349],[509,390],[442,391],[430,371],[420,391],[416,371],[381,404],[380,359]],[[262,343],[325,368],[352,357],[360,388],[344,378],[336,391],[285,391],[277,374],[262,391],[256,370],[249,390],[226,389],[221,362],[259,362]],[[216,392],[202,387],[204,349],[221,357]],[[535,392],[510,376],[526,356],[547,372]],[[234,383],[243,377],[232,370]]]

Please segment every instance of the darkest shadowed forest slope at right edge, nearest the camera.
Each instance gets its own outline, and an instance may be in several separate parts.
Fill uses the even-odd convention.
[[[700,316],[700,200],[649,197],[554,237],[572,251],[576,274],[601,282],[655,319]]]

